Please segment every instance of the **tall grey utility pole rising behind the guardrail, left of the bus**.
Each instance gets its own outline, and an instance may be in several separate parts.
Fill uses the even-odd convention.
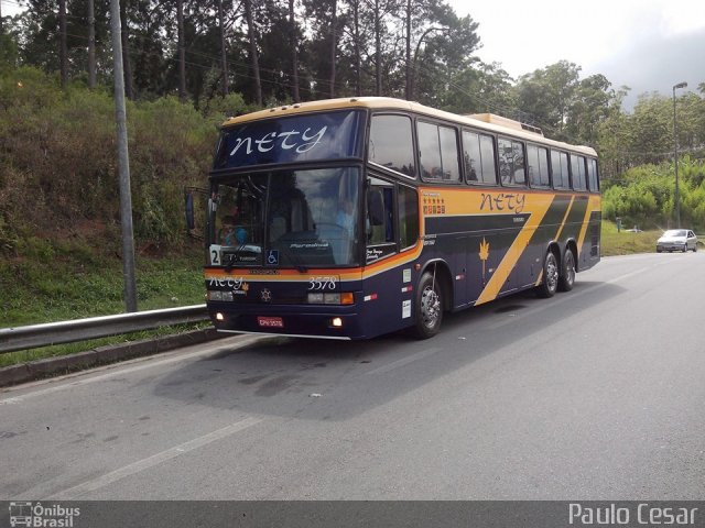
[[[118,133],[118,173],[120,177],[120,224],[122,231],[122,278],[126,311],[137,311],[134,279],[134,240],[132,233],[132,193],[130,190],[130,158],[128,155],[127,112],[124,109],[124,74],[122,70],[122,36],[120,0],[110,0],[112,33],[112,64],[115,77],[115,121]]]

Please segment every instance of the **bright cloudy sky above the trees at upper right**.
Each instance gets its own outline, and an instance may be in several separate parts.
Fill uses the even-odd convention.
[[[703,0],[449,0],[458,15],[479,23],[484,63],[500,63],[513,78],[565,59],[581,78],[603,74],[637,96],[672,95],[681,81],[705,82]],[[681,91],[679,91],[680,94]]]

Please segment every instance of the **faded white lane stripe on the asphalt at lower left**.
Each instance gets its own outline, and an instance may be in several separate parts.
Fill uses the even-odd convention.
[[[242,431],[248,427],[252,427],[260,421],[262,421],[261,418],[253,417],[236,421],[235,424],[230,424],[227,427],[209,432],[208,435],[204,435],[203,437],[195,438],[193,440],[189,440],[188,442],[162,451],[161,453],[153,454],[152,457],[148,457],[147,459],[133,462],[97,479],[93,479],[90,481],[84,482],[83,484],[78,484],[77,486],[63,490],[47,497],[47,499],[68,501],[85,495],[86,493],[95,492],[96,490],[112,484],[113,482],[120,481],[127,476],[134,475],[144,470],[149,470],[150,468],[154,468],[155,465],[175,459],[176,457],[193,451],[194,449],[203,448],[204,446],[215,442],[216,440],[220,440],[223,438],[229,437],[230,435],[235,435],[236,432]]]

